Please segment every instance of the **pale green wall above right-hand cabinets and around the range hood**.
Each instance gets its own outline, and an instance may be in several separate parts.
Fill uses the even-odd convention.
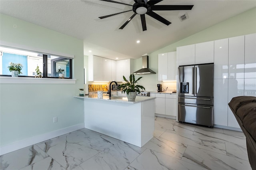
[[[242,14],[229,18],[228,20],[184,38],[183,40],[163,47],[162,49],[148,53],[149,68],[155,71],[156,74],[142,75],[143,79],[141,79],[142,81],[140,81],[140,84],[143,85],[147,91],[156,91],[156,85],[158,83],[164,84],[163,82],[158,81],[159,53],[176,51],[176,47],[184,45],[220,40],[253,33],[256,33],[256,8],[252,8],[251,10],[248,10]],[[136,65],[134,65],[134,71],[137,71],[142,67],[142,58],[136,59],[134,63],[136,63]]]

